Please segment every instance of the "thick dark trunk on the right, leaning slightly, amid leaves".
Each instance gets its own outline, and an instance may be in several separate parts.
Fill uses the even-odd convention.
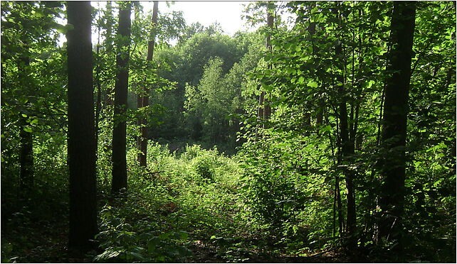
[[[387,65],[381,148],[382,189],[379,206],[382,219],[379,238],[399,242],[401,248],[401,216],[404,209],[406,121],[408,114],[411,56],[416,16],[416,3],[394,2],[392,13],[392,49]]]

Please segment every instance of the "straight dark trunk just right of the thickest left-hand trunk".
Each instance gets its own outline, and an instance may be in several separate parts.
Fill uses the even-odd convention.
[[[116,194],[127,189],[126,128],[125,111],[127,109],[127,87],[129,79],[130,57],[130,13],[132,3],[122,2],[119,11],[119,28],[117,33],[122,40],[117,46],[117,74],[115,84],[114,129],[112,131],[112,185],[111,191]]]

